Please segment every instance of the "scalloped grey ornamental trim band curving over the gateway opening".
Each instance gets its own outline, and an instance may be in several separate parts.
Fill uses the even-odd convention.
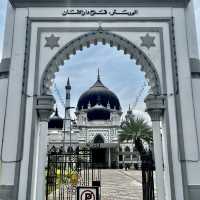
[[[41,95],[51,94],[51,86],[55,73],[59,71],[59,66],[64,65],[64,61],[70,59],[70,55],[75,55],[76,51],[82,51],[84,47],[89,48],[91,44],[97,45],[102,42],[103,45],[109,44],[110,47],[116,47],[117,50],[123,50],[124,54],[129,54],[130,59],[135,59],[137,65],[141,65],[141,71],[145,73],[145,78],[150,86],[150,93],[154,95],[161,94],[161,86],[158,73],[147,55],[129,40],[104,31],[101,27],[93,32],[86,33],[67,43],[48,63],[42,75],[40,93]]]

